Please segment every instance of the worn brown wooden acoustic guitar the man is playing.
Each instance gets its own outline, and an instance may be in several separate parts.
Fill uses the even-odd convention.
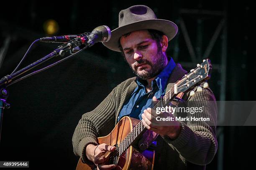
[[[161,101],[157,102],[153,109],[156,110],[156,107],[165,107],[179,93],[186,92],[200,82],[210,79],[211,70],[212,65],[209,59],[203,60],[201,64],[197,64],[195,69],[190,70],[187,75],[184,75],[181,80],[174,84],[171,90],[166,92],[164,97],[161,98]],[[205,82],[203,87],[208,87],[207,82]],[[197,91],[202,91],[202,87],[197,87]],[[194,91],[191,91],[190,95],[194,95],[194,93]],[[97,143],[99,144],[106,143],[107,145],[116,147],[113,152],[105,153],[105,165],[115,164],[115,170],[153,170],[155,151],[150,148],[141,151],[136,147],[138,140],[145,132],[146,128],[141,120],[125,116],[115,125],[115,128],[110,134],[97,138]],[[153,134],[153,138],[156,135]],[[97,170],[97,166],[85,164],[80,158],[76,170]]]

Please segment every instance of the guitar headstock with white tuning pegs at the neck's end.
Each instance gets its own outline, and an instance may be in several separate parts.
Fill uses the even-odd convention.
[[[204,80],[210,79],[210,72],[212,70],[211,61],[209,59],[203,60],[201,64],[197,64],[195,69],[190,70],[187,75],[184,75],[182,79],[174,85],[174,94],[179,92],[185,92],[195,85]],[[208,87],[208,83],[205,82],[204,88]],[[202,87],[197,87],[197,91],[202,91]],[[194,95],[194,91],[190,92],[190,95]]]

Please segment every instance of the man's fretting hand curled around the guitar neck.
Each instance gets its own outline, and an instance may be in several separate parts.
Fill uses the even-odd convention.
[[[155,96],[153,97],[153,101],[158,101]],[[167,135],[172,140],[176,139],[179,136],[181,130],[180,122],[177,122],[175,120],[169,121],[168,123],[170,125],[166,125],[166,122],[156,120],[156,115],[153,116],[151,114],[152,110],[151,108],[147,108],[142,113],[141,117],[143,125],[148,130],[153,130],[155,133],[158,133],[159,135]],[[161,117],[172,116],[170,113],[167,112],[161,112],[161,114]]]

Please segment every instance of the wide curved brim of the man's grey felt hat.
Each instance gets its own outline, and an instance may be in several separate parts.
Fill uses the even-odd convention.
[[[177,25],[172,21],[161,19],[142,20],[116,28],[111,31],[110,40],[102,43],[110,50],[121,52],[119,49],[119,39],[122,35],[128,32],[146,29],[159,30],[163,32],[168,37],[168,41],[172,40],[178,32]]]

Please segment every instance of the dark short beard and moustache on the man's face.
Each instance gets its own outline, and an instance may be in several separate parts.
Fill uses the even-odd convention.
[[[133,63],[130,67],[132,68],[134,74],[140,77],[143,80],[150,79],[158,75],[166,66],[165,65],[166,56],[162,53],[162,51],[158,51],[156,57],[152,58],[152,61],[148,61],[146,59],[141,59]],[[139,64],[148,64],[151,66],[151,69],[141,68],[139,72],[138,65]]]

